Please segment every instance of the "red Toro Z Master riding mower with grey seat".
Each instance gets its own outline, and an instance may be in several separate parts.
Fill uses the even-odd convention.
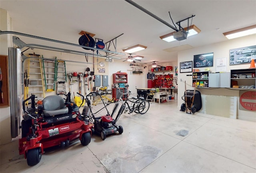
[[[66,101],[70,101],[70,93],[68,95]],[[31,107],[26,110],[28,100],[31,100]],[[45,148],[57,145],[64,148],[78,138],[84,146],[90,143],[94,124],[83,119],[76,104],[52,95],[45,97],[42,104],[35,105],[35,95],[22,102],[24,120],[21,122],[19,153],[24,154],[29,166],[40,162]]]

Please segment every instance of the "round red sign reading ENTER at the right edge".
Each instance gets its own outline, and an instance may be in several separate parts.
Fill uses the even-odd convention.
[[[244,92],[240,96],[240,104],[247,110],[256,111],[256,92]]]

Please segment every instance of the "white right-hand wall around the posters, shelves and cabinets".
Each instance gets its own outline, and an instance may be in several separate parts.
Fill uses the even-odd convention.
[[[180,62],[184,61],[193,61],[194,55],[202,54],[202,53],[210,53],[214,52],[214,63],[213,67],[210,67],[210,71],[215,72],[216,66],[215,66],[215,60],[216,58],[221,57],[227,57],[227,71],[230,72],[232,69],[248,69],[250,67],[250,64],[241,64],[241,65],[229,65],[229,51],[230,49],[236,49],[240,47],[246,47],[256,45],[256,35],[248,35],[246,37],[240,37],[236,39],[231,39],[228,41],[223,41],[220,43],[215,43],[212,45],[206,45],[203,47],[196,47],[192,49],[187,49],[184,51],[178,52],[178,64]],[[200,71],[204,71],[204,68],[199,68]],[[193,90],[192,88],[192,76],[186,76],[186,75],[192,75],[192,73],[179,73],[178,74],[178,81],[179,81],[179,89],[178,89],[178,107],[182,104],[183,100],[180,96],[184,95],[185,91],[185,85],[183,81],[186,81],[187,83],[187,90]],[[180,82],[180,79],[182,79],[182,82]],[[181,83],[181,85],[180,85]],[[182,84],[183,83],[183,84]],[[198,90],[201,92],[201,94],[212,94],[212,95],[223,95],[223,96],[237,96],[239,99],[239,91],[238,90],[229,90],[226,88],[220,88],[220,89],[204,89],[204,88],[198,88]],[[203,99],[203,97],[202,97]],[[205,100],[202,100],[204,104]],[[239,100],[237,101],[239,104]],[[216,107],[216,112],[218,111],[218,104],[212,105]],[[238,107],[238,106],[237,106]],[[229,108],[228,108],[229,109]],[[203,111],[203,110],[201,110]],[[237,110],[237,118],[244,119],[244,120],[250,120],[250,121],[256,121],[256,114],[252,111],[243,111],[243,110]]]

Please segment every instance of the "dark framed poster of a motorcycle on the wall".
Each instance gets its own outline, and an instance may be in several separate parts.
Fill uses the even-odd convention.
[[[194,68],[213,67],[213,52],[194,55]]]

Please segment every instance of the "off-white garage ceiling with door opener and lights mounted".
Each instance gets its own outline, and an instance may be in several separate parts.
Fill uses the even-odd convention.
[[[117,51],[124,53],[124,48],[145,45],[147,49],[132,54],[144,56],[142,63],[177,61],[179,50],[226,41],[222,33],[256,24],[255,0],[134,2],[172,26],[168,12],[174,23],[194,14],[192,24],[201,32],[185,41],[163,41],[159,37],[174,30],[124,0],[0,0],[0,8],[9,12],[13,31],[30,35],[78,44],[81,30],[96,34],[94,38],[104,42],[124,33],[117,38]],[[181,23],[183,28],[187,25],[187,21]],[[32,41],[20,39],[25,43]],[[40,42],[33,40],[33,43]],[[127,56],[128,53],[116,57]]]

